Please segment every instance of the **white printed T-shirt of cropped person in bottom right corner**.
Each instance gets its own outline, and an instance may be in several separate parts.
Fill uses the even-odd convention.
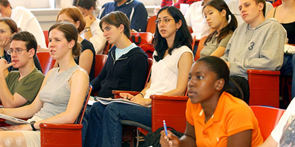
[[[293,115],[293,116],[291,116],[291,115]],[[290,102],[288,108],[286,109],[286,111],[282,115],[280,121],[278,122],[276,127],[271,132],[271,137],[278,143],[278,146],[280,146],[280,139],[282,137],[283,129],[284,129],[288,119],[294,117],[294,115],[295,115],[295,98],[293,98],[293,100]],[[291,134],[290,134],[290,137],[292,137]]]

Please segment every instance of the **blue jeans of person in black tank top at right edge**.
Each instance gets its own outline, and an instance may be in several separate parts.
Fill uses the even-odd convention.
[[[281,68],[281,75],[292,76],[292,90],[291,96],[295,96],[295,54],[284,54],[283,66]]]

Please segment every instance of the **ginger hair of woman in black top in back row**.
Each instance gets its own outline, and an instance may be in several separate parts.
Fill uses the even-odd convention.
[[[58,21],[58,17],[60,14],[66,14],[68,15],[73,21],[77,22],[80,21],[80,25],[78,27],[78,32],[80,33],[81,31],[84,30],[84,27],[86,26],[86,22],[84,20],[82,12],[74,6],[63,8],[58,12],[58,15],[56,17],[56,21]]]

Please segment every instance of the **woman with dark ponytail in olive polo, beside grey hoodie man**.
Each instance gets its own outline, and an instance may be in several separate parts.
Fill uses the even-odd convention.
[[[232,33],[237,28],[237,19],[223,0],[210,1],[204,6],[203,13],[207,24],[215,31],[206,38],[200,56],[221,57]]]

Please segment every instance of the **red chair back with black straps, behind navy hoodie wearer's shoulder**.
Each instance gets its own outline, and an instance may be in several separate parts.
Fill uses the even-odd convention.
[[[150,32],[131,32],[130,41],[137,46],[142,44],[151,44],[153,42],[153,34]]]

